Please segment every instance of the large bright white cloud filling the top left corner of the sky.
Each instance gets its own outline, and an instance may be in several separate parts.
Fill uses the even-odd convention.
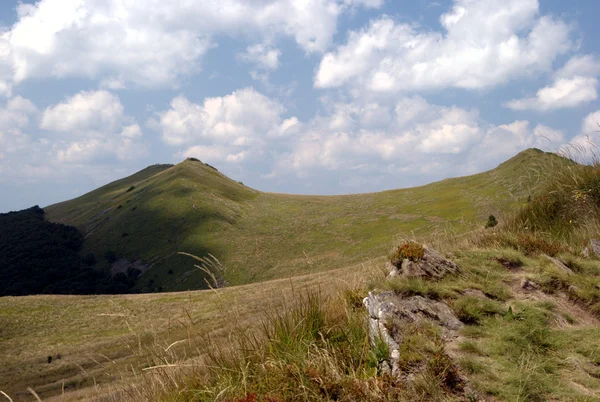
[[[31,77],[86,77],[109,89],[175,85],[216,37],[289,36],[308,53],[328,48],[339,15],[381,1],[41,0],[20,3],[0,31],[0,95]],[[249,49],[250,57],[259,57]],[[265,58],[266,57],[266,58]],[[261,60],[273,68],[278,53]]]

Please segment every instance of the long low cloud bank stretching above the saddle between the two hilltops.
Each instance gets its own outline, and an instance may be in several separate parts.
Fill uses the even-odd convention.
[[[344,186],[375,190],[370,186],[381,184],[382,177],[474,173],[526,148],[554,149],[564,142],[561,131],[544,125],[496,126],[476,109],[435,105],[419,96],[321,101],[322,111],[303,122],[252,88],[199,104],[180,96],[151,125],[178,157],[274,181],[301,177],[305,191],[316,185],[310,177],[334,180],[336,191],[353,191]],[[354,171],[360,171],[355,179],[342,180]]]

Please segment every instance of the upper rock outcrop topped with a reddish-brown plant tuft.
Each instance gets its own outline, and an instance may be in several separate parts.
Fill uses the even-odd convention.
[[[460,268],[454,262],[444,258],[437,251],[423,246],[424,255],[419,261],[404,259],[400,268],[392,263],[386,265],[390,274],[388,277],[419,277],[440,279],[448,274],[460,272]]]

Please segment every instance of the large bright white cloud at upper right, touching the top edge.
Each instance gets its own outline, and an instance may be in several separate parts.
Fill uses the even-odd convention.
[[[571,49],[571,29],[538,13],[537,0],[455,0],[440,17],[443,32],[382,17],[324,55],[315,86],[477,89],[548,71]]]

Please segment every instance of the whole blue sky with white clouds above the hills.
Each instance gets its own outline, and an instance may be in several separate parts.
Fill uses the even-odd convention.
[[[494,168],[600,130],[596,0],[0,2],[0,212],[196,157],[262,191]]]

